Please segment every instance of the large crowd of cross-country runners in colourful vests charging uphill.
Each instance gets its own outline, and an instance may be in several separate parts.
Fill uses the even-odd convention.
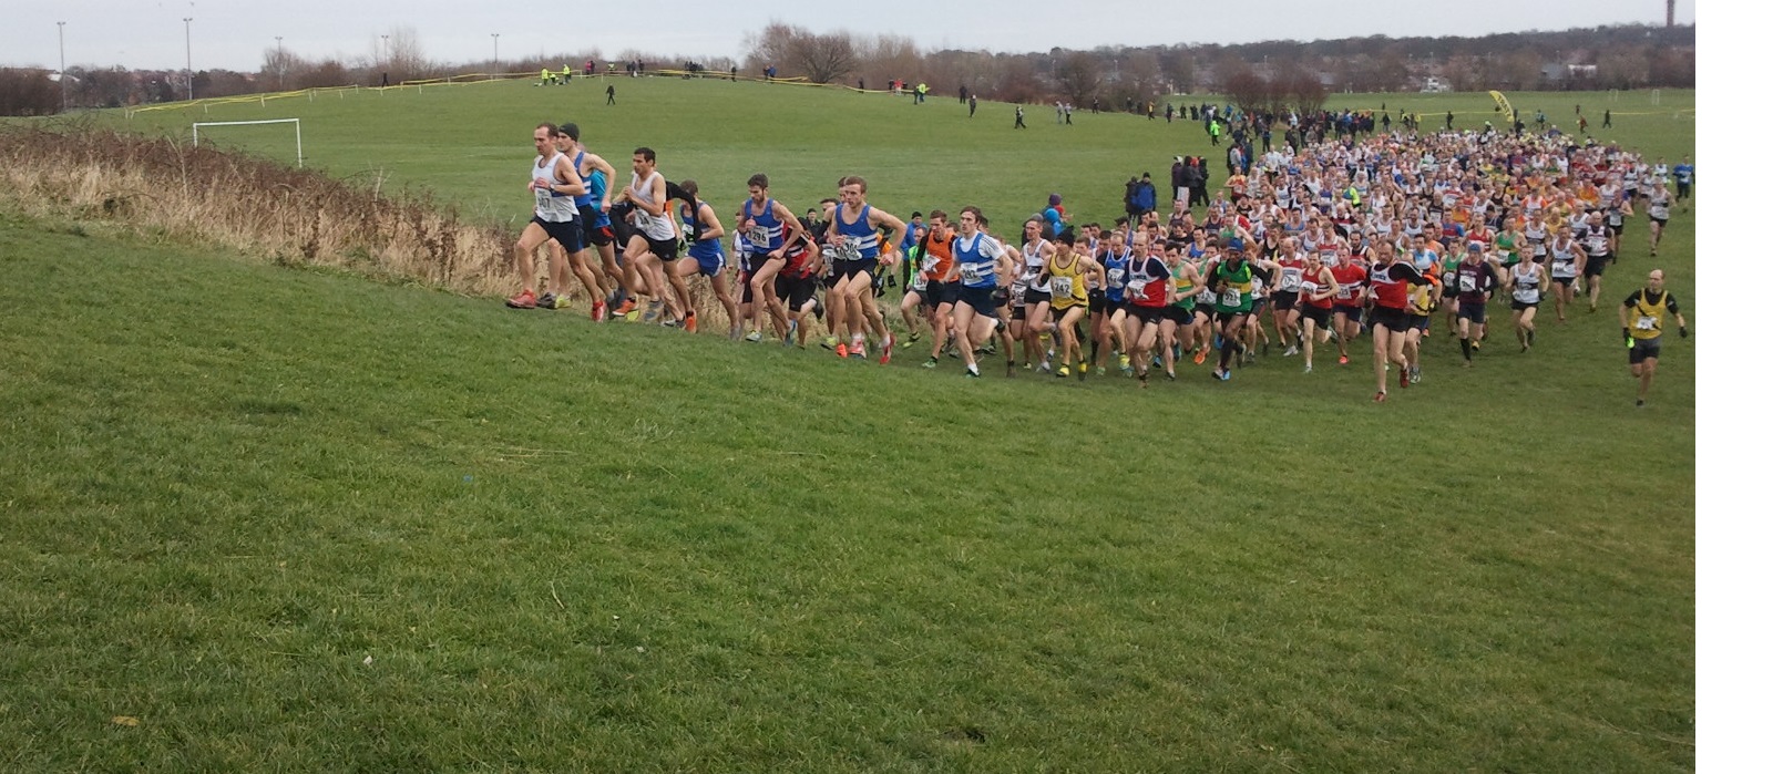
[[[926,368],[947,356],[968,377],[996,356],[1007,375],[1019,365],[1060,379],[1126,374],[1140,386],[1154,370],[1174,381],[1186,360],[1213,360],[1213,377],[1229,381],[1271,349],[1307,374],[1319,358],[1349,365],[1365,335],[1381,402],[1394,381],[1422,379],[1436,315],[1470,367],[1504,324],[1491,321],[1493,299],[1507,308],[1498,337],[1512,333],[1521,352],[1537,342],[1541,306],[1560,322],[1617,308],[1640,406],[1665,328],[1686,335],[1661,271],[1644,266],[1645,283],[1619,306],[1603,280],[1638,250],[1626,232],[1640,211],[1638,244],[1656,255],[1691,165],[1670,191],[1667,163],[1558,133],[1330,136],[1230,170],[1204,205],[1183,198],[1168,213],[1073,223],[1055,193],[1000,227],[975,205],[901,220],[871,205],[855,175],[796,214],[757,174],[723,218],[695,181],[667,181],[651,149],[635,149],[617,188],[613,165],[580,143],[576,126],[541,124],[534,140],[535,218],[514,248],[514,308],[567,308],[576,278],[594,321],[695,331],[697,298],[711,294],[734,340],[878,352],[879,363],[922,342]],[[537,296],[543,246],[551,276]],[[697,276],[709,294],[691,294]],[[902,285],[902,333],[888,324],[888,285]]]

